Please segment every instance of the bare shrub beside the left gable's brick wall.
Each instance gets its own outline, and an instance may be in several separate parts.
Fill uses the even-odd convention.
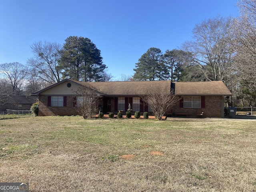
[[[96,100],[100,98],[97,89],[92,86],[82,86],[76,91],[76,107],[84,118],[92,118],[96,114]]]

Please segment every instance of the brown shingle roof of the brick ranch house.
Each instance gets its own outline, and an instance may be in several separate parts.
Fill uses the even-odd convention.
[[[64,81],[75,82],[83,86],[92,86],[106,96],[140,96],[152,92],[170,93],[171,87],[175,88],[177,95],[224,95],[231,96],[232,93],[222,81],[209,82],[173,82],[164,81],[127,81],[127,82],[80,82],[71,79]],[[62,83],[60,82],[60,83]],[[34,94],[38,95],[44,90],[57,86],[58,83],[52,84]]]

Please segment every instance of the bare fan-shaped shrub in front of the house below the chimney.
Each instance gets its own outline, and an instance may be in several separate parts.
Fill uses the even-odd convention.
[[[180,100],[172,90],[166,93],[164,90],[152,90],[147,95],[140,96],[150,106],[158,120],[161,120],[171,107]]]

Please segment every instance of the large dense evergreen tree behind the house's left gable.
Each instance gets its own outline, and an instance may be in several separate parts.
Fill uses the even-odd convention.
[[[100,50],[88,38],[70,36],[61,51],[60,68],[63,78],[79,81],[100,81],[107,68]]]

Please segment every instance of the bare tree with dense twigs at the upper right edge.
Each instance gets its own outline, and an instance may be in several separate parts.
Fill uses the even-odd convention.
[[[236,67],[246,86],[256,89],[256,0],[241,0],[240,17],[234,21],[231,34],[236,50]]]

